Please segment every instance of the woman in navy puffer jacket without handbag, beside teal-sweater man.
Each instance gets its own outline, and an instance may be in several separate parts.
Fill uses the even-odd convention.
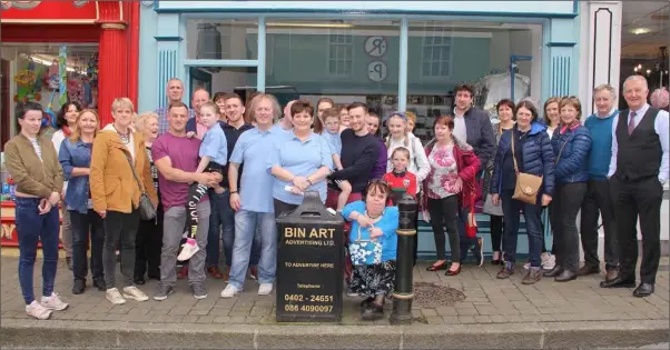
[[[544,273],[556,282],[577,279],[579,269],[579,232],[577,214],[587,193],[589,180],[588,158],[591,133],[581,123],[582,107],[575,97],[566,97],[559,103],[561,123],[554,130],[551,146],[556,158],[556,189],[549,208],[549,217],[555,236],[556,266]]]

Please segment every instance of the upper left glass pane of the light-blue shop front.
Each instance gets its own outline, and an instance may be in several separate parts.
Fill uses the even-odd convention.
[[[258,57],[256,19],[186,20],[186,57],[203,60],[255,60]]]

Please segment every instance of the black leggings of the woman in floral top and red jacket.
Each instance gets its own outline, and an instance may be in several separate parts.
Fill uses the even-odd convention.
[[[431,214],[431,226],[435,236],[435,250],[437,260],[446,260],[446,240],[444,228],[449,234],[449,246],[452,251],[452,261],[461,261],[461,242],[456,220],[459,217],[459,196],[450,196],[442,199],[428,198],[428,213]]]

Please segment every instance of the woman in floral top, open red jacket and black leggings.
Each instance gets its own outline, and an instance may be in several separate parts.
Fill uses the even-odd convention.
[[[456,227],[459,206],[474,210],[475,177],[481,163],[472,147],[453,136],[454,117],[437,117],[433,131],[435,139],[425,148],[431,171],[423,182],[422,207],[424,220],[430,221],[433,227],[437,261],[426,270],[446,269],[446,227],[452,263],[445,276],[456,276],[461,273],[461,242]],[[471,217],[474,217],[472,211]],[[476,234],[476,231],[473,233]]]

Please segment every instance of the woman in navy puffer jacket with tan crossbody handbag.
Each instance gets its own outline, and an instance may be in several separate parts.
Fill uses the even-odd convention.
[[[516,104],[516,124],[504,131],[497,144],[491,177],[494,204],[502,202],[505,264],[497,279],[510,278],[516,261],[519,217],[523,210],[531,267],[521,281],[533,284],[542,278],[542,206],[554,191],[554,157],[545,127],[538,122],[538,108],[530,101]]]

